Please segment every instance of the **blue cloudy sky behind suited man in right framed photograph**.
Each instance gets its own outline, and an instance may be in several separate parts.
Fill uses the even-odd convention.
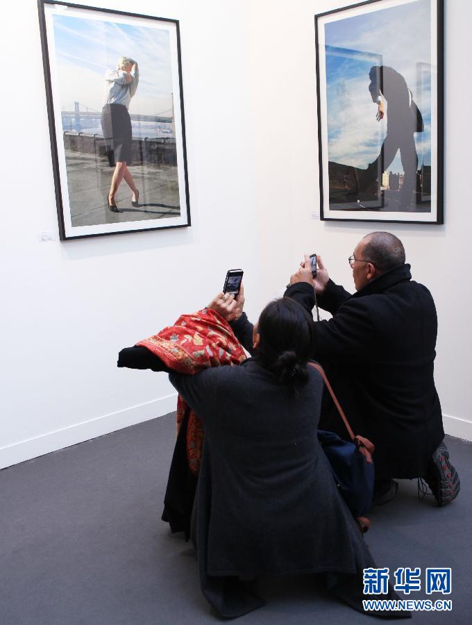
[[[364,12],[324,28],[329,160],[364,168],[377,158],[387,122],[376,121],[369,69],[389,65],[403,74],[421,110],[425,131],[415,134],[416,149],[420,165],[430,165],[430,0]],[[403,171],[399,155],[389,169]]]

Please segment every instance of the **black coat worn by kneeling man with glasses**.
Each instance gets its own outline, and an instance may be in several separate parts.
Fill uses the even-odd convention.
[[[314,306],[307,283],[290,286],[286,295],[309,310]],[[410,265],[401,265],[353,295],[330,281],[318,304],[332,319],[316,323],[313,356],[325,367],[355,433],[376,444],[376,478],[423,476],[444,438],[430,292],[412,281]],[[333,423],[339,417],[328,411],[321,425]]]

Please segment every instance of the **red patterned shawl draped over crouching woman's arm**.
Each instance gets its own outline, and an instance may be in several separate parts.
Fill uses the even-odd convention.
[[[162,360],[169,369],[182,374],[196,374],[207,367],[240,365],[246,354],[228,322],[215,310],[203,308],[193,315],[181,315],[173,326],[139,343]],[[187,405],[177,399],[177,429]],[[198,474],[203,446],[203,425],[190,410],[187,425],[187,458],[189,467]]]

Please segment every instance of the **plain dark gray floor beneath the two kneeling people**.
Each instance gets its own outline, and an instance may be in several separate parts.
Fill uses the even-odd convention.
[[[217,622],[192,548],[160,521],[174,432],[167,415],[0,472],[2,625]],[[437,508],[431,496],[418,501],[416,481],[402,481],[366,535],[391,572],[452,567],[452,594],[430,597],[452,599],[452,612],[414,612],[418,624],[472,622],[472,443],[447,442],[462,481],[457,500]],[[308,576],[263,580],[260,590],[267,606],[238,623],[376,622]]]

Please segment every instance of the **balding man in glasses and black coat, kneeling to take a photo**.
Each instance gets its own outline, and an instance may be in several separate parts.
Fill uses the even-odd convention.
[[[376,445],[376,503],[396,494],[392,478],[423,477],[445,506],[457,497],[460,480],[444,444],[433,376],[435,303],[425,286],[412,281],[403,244],[391,233],[366,235],[348,262],[354,294],[330,280],[320,257],[317,277],[305,257],[285,294],[311,311],[316,291],[319,306],[332,314],[316,322],[312,356],[325,368],[353,429]],[[233,330],[250,349],[243,301],[240,295],[226,308],[232,306]],[[337,413],[324,406],[320,427],[344,436],[338,424]]]

